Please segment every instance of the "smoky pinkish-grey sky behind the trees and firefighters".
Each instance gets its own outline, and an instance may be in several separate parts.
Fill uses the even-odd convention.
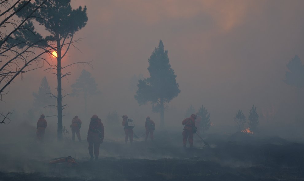
[[[150,104],[138,106],[134,99],[136,79],[149,77],[148,58],[162,40],[180,85],[181,93],[165,111],[169,130],[182,131],[181,121],[190,104],[203,104],[211,114],[210,132],[236,131],[233,118],[241,109],[246,117],[254,104],[260,115],[260,130],[286,137],[302,137],[303,90],[286,85],[286,64],[295,55],[304,60],[303,1],[72,1],[72,7],[87,6],[87,25],[76,33],[83,38],[68,51],[63,64],[93,61],[89,66],[74,66],[65,93],[72,92],[83,69],[89,71],[101,94],[88,97],[88,115],[84,117],[84,100],[67,96],[63,104],[63,125],[75,115],[83,121],[82,138],[86,138],[89,118],[97,114],[105,120],[109,111],[119,114],[119,133],[123,137],[121,116],[134,119],[135,133],[144,133],[144,121],[150,116],[160,124],[159,113]],[[46,66],[47,68],[47,66]],[[56,77],[44,68],[31,71],[10,85],[10,92],[0,102],[0,110],[15,109],[16,119],[0,130],[9,131],[25,120],[44,76],[51,91],[56,92]],[[135,80],[135,81],[134,81]],[[44,114],[54,115],[44,111]],[[35,136],[35,119],[30,120]],[[57,121],[46,118],[48,133],[56,135]],[[104,121],[103,121],[104,122]],[[106,138],[109,127],[106,123]],[[298,128],[298,129],[296,129]],[[296,130],[294,130],[296,129]],[[71,132],[71,131],[70,131]],[[108,133],[107,133],[108,132]],[[69,135],[70,136],[70,135]],[[289,135],[290,136],[290,135]],[[156,136],[157,138],[157,136]]]

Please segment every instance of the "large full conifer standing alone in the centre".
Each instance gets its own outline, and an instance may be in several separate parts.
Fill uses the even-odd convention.
[[[168,50],[164,50],[162,40],[158,47],[154,49],[148,59],[150,77],[138,80],[138,90],[135,99],[139,105],[150,102],[154,112],[160,112],[161,124],[164,126],[164,104],[169,103],[181,92],[176,75],[171,68],[168,58]]]

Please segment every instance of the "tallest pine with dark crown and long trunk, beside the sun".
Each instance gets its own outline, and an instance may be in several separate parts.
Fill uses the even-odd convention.
[[[42,0],[36,0],[30,2],[22,11],[17,13],[18,17],[28,17],[28,9],[40,4]],[[72,9],[70,0],[49,0],[45,2],[41,9],[38,9],[33,13],[33,20],[37,21],[40,25],[43,25],[45,29],[50,33],[44,40],[48,43],[47,45],[41,44],[45,48],[53,48],[57,55],[54,57],[57,59],[57,65],[54,65],[50,70],[56,70],[57,76],[57,96],[53,95],[57,99],[57,139],[62,140],[62,110],[66,105],[62,105],[62,86],[61,79],[70,75],[70,72],[61,74],[61,70],[67,66],[61,65],[61,59],[66,55],[70,45],[75,42],[73,41],[74,34],[83,28],[88,21],[87,8],[84,9],[80,6],[78,9]],[[29,29],[34,29],[33,23],[28,21]],[[31,41],[32,35],[26,32],[20,31],[19,39],[25,41]],[[41,38],[42,39],[42,38]],[[76,40],[77,41],[77,40]],[[68,43],[66,43],[68,42]],[[65,45],[67,45],[65,47]],[[63,51],[64,50],[64,51]],[[73,63],[75,64],[75,63]],[[68,65],[70,66],[70,65]]]

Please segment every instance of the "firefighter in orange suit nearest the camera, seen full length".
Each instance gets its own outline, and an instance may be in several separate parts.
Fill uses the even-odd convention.
[[[99,156],[99,145],[103,142],[104,138],[104,127],[103,123],[101,123],[101,119],[98,118],[97,115],[93,115],[91,118],[89,130],[88,130],[88,138],[87,141],[89,143],[89,154],[91,156],[91,160],[93,159],[93,147],[94,147],[94,155],[95,160],[98,159]]]

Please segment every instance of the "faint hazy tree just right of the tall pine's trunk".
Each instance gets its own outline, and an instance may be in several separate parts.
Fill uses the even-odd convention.
[[[87,98],[90,95],[98,93],[97,84],[94,77],[92,77],[90,72],[82,70],[79,78],[76,80],[76,83],[72,84],[71,87],[73,88],[73,93],[71,96],[79,96],[79,94],[83,94],[84,112],[85,115],[87,115]]]

